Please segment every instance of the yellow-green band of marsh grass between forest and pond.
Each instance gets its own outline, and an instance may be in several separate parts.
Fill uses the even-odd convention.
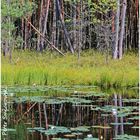
[[[12,62],[2,56],[2,85],[97,85],[101,87],[138,86],[138,56],[109,59],[95,51],[77,56],[56,53],[14,51]]]

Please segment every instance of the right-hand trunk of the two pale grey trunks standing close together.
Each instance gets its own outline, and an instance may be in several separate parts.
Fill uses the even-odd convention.
[[[125,16],[126,16],[126,5],[127,1],[123,0],[122,6],[122,16],[121,16],[121,31],[120,31],[120,40],[119,40],[119,59],[122,59],[123,55],[123,39],[124,39],[124,31],[125,31]]]

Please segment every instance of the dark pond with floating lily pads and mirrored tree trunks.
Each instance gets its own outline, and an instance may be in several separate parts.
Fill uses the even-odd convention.
[[[4,140],[138,140],[138,90],[2,88]]]

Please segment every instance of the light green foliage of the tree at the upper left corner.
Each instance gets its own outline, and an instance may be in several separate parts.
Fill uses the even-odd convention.
[[[21,38],[19,40],[19,37],[17,37],[17,40],[15,40],[14,31],[16,27],[14,22],[19,18],[31,16],[35,8],[36,5],[30,1],[24,3],[21,3],[19,0],[11,0],[9,3],[5,0],[1,1],[2,42],[6,43],[10,41],[10,44],[8,44],[9,47],[19,46]]]

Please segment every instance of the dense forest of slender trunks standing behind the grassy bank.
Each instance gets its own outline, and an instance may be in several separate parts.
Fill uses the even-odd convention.
[[[2,52],[138,49],[138,0],[2,0]]]

